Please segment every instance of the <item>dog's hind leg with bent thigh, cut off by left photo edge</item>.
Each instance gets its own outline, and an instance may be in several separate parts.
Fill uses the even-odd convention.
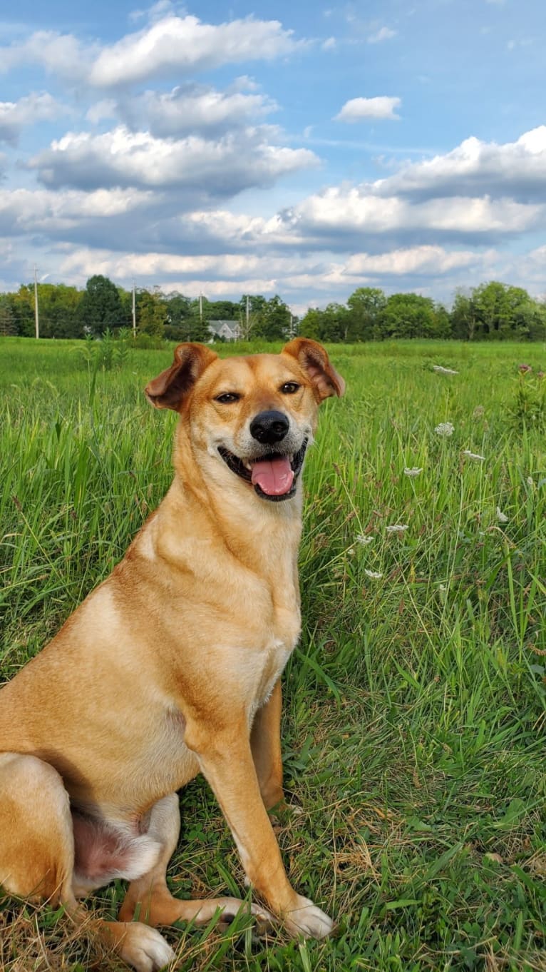
[[[74,831],[70,800],[55,769],[36,756],[0,754],[0,885],[17,897],[64,905],[86,920],[73,890]],[[153,928],[140,922],[86,922],[137,972],[154,972],[173,957]]]

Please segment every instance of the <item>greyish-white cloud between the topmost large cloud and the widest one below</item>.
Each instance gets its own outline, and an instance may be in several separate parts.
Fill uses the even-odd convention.
[[[107,104],[110,104],[107,102]],[[133,131],[146,128],[158,138],[200,131],[210,136],[244,127],[250,120],[277,110],[262,94],[219,91],[188,84],[172,91],[144,91],[121,99],[116,113]],[[104,116],[103,116],[104,117]]]

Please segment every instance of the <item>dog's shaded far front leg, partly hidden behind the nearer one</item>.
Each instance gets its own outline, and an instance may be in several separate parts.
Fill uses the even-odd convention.
[[[284,803],[285,799],[281,755],[282,706],[279,679],[268,701],[256,712],[251,733],[257,782],[266,810]]]

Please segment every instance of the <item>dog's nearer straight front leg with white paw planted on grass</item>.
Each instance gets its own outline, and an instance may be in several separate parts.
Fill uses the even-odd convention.
[[[292,934],[323,938],[333,922],[290,885],[261,798],[246,719],[222,729],[207,723],[188,721],[185,742],[222,807],[247,877]]]

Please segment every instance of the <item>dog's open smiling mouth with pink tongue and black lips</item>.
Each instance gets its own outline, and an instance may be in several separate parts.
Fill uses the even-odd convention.
[[[290,500],[295,493],[297,476],[301,472],[308,440],[293,455],[270,452],[258,459],[243,460],[219,446],[225,465],[247,482],[252,483],[256,495],[263,500],[279,503]]]

